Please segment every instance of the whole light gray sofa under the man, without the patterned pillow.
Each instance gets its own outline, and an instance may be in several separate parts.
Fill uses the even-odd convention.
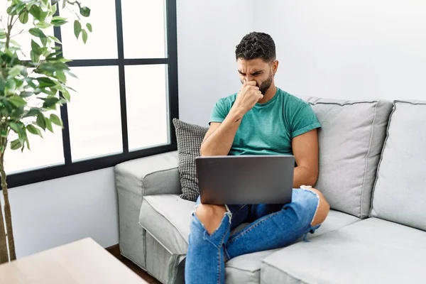
[[[332,210],[308,241],[239,256],[226,283],[424,283],[426,102],[303,98],[322,124],[320,176]],[[194,202],[178,153],[116,165],[121,254],[183,283]]]

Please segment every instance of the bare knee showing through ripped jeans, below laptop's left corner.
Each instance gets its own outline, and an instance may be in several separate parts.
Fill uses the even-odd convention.
[[[200,204],[195,209],[195,214],[209,234],[219,227],[225,212],[223,205]]]

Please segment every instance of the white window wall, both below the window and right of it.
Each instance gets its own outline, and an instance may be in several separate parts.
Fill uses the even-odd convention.
[[[252,2],[178,0],[180,118],[207,125],[219,97],[236,92],[234,48],[252,30]],[[114,170],[10,190],[18,257],[90,236],[119,242]]]

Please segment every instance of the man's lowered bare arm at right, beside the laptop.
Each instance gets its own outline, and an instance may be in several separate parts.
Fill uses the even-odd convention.
[[[291,141],[293,155],[297,163],[293,187],[315,185],[318,179],[318,131],[313,129],[296,136]]]

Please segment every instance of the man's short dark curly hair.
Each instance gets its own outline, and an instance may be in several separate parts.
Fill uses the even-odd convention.
[[[262,58],[266,62],[275,60],[275,43],[267,33],[252,32],[244,36],[235,50],[236,60]]]

